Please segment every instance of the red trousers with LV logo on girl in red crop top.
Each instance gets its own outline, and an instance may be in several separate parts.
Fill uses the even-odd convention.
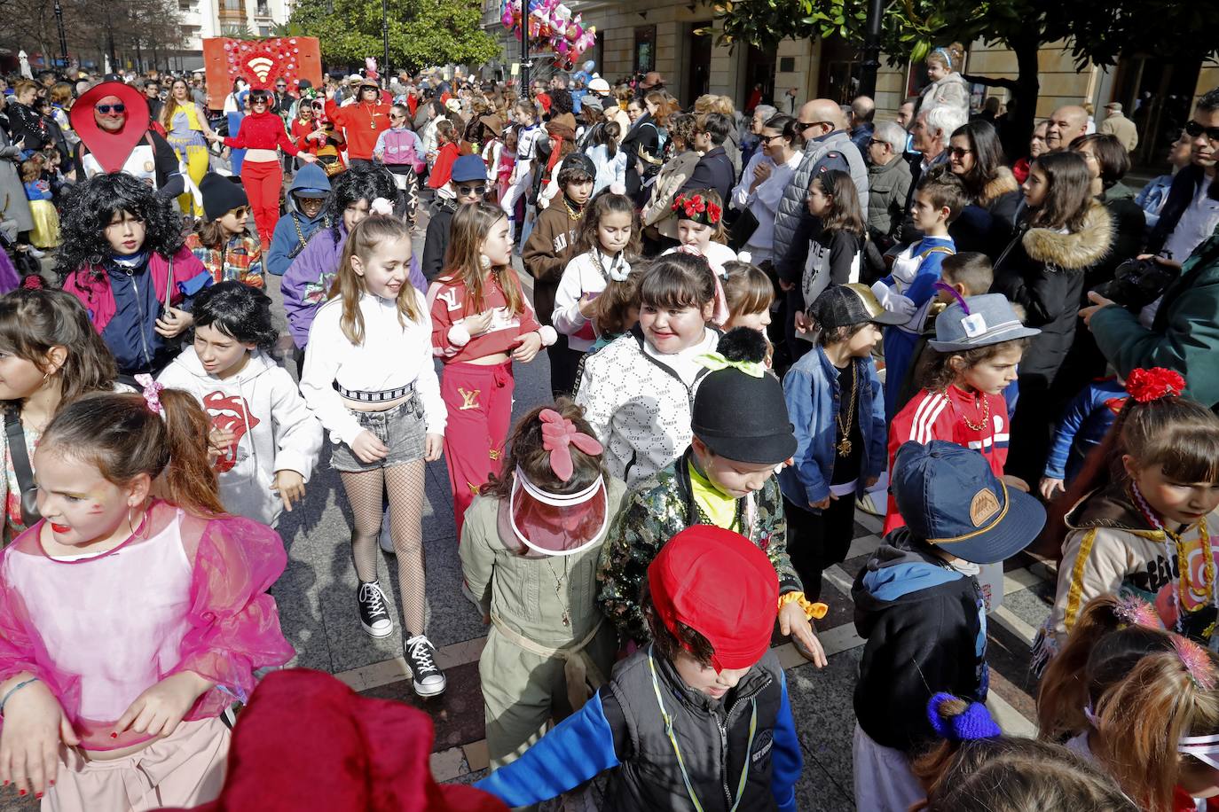
[[[449,464],[458,543],[466,509],[479,486],[491,474],[500,472],[512,422],[514,385],[511,360],[490,366],[461,362],[445,365],[440,380],[440,397],[449,408],[445,463]]]

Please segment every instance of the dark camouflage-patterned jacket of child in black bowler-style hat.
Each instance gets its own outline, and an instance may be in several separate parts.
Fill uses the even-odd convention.
[[[661,547],[686,527],[712,523],[695,504],[689,460],[690,450],[686,450],[675,463],[641,481],[628,493],[601,548],[597,603],[605,616],[618,627],[624,642],[634,638],[642,643],[651,637],[640,611],[639,595],[647,565]],[[777,477],[767,480],[757,493],[737,500],[737,517],[750,513],[753,521],[748,532],[742,534],[766,550],[779,573],[779,593],[803,592],[800,576],[787,556],[787,522],[783,516],[783,497]]]

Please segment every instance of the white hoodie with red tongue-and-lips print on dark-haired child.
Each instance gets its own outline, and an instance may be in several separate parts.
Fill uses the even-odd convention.
[[[296,471],[308,482],[322,452],[322,424],[288,370],[254,351],[245,369],[221,380],[187,347],[157,381],[194,394],[213,427],[236,435],[229,454],[216,461],[221,502],[234,515],[274,527],[283,510],[271,489],[275,471]]]

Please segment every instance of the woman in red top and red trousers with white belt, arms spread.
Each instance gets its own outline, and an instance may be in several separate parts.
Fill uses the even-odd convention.
[[[236,136],[230,135],[224,139],[218,135],[210,136],[211,140],[223,141],[224,146],[234,150],[246,150],[241,163],[241,185],[245,186],[246,197],[250,198],[254,223],[265,246],[271,245],[275,223],[279,222],[279,192],[284,186],[284,169],[278,150],[306,163],[317,161],[315,156],[301,152],[293,144],[288,138],[288,130],[284,129],[284,119],[269,111],[269,91],[251,90],[250,114],[241,119]]]

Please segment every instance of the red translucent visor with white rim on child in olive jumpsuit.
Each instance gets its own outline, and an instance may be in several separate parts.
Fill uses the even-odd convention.
[[[518,467],[508,497],[508,520],[517,539],[542,555],[574,555],[599,544],[610,523],[605,480],[577,493],[542,491]]]

